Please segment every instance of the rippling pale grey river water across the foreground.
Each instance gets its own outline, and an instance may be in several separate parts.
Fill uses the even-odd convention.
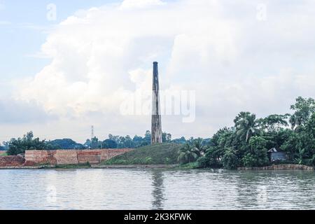
[[[0,209],[315,209],[315,173],[0,170]]]

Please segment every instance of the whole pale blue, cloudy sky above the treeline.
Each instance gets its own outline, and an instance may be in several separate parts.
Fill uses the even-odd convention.
[[[288,113],[315,97],[314,25],[311,0],[0,0],[0,142],[144,135],[155,61],[174,138]]]

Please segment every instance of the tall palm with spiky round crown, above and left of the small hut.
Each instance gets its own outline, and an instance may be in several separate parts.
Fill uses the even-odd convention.
[[[248,143],[254,134],[258,134],[258,120],[253,113],[241,112],[234,120],[237,136]]]

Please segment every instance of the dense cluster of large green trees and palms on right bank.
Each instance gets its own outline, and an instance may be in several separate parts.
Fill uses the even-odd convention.
[[[218,130],[209,144],[202,139],[188,142],[179,152],[179,162],[196,162],[198,167],[261,167],[270,165],[267,151],[276,148],[287,155],[283,163],[315,165],[315,101],[298,97],[292,114],[257,119],[241,112],[233,127]]]

